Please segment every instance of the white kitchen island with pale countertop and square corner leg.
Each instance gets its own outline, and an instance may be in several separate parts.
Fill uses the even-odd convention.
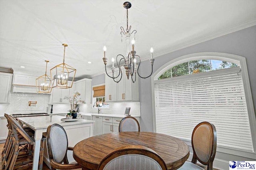
[[[34,145],[34,158],[33,158],[33,170],[38,170],[38,161],[39,161],[39,153],[40,153],[40,141],[42,139],[42,135],[47,131],[47,127],[52,124],[61,125],[68,136],[68,146],[74,147],[76,143],[86,139],[88,137],[92,137],[92,128],[94,121],[77,119],[77,121],[72,122],[64,122],[60,119],[64,118],[59,115],[49,115],[49,116],[37,116],[37,117],[19,117],[18,121],[25,124],[35,131],[35,145]],[[73,162],[74,158],[72,156],[72,152],[68,151],[68,160],[69,162]],[[44,162],[47,166],[50,167],[50,161],[48,158],[48,150],[44,149]]]

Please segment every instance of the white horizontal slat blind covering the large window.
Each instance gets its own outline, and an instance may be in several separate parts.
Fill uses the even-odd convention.
[[[154,81],[156,132],[191,140],[194,127],[213,123],[217,146],[253,151],[240,68]]]

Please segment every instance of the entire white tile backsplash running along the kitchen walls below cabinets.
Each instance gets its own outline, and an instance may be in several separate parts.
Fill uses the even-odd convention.
[[[37,102],[28,106],[28,102]],[[0,115],[4,113],[50,113],[50,94],[11,93],[9,104],[0,104]],[[52,104],[53,113],[68,113],[70,104]],[[100,108],[100,113],[123,115],[126,107],[131,107],[130,114],[140,115],[139,102],[109,103],[110,108]],[[98,108],[92,108],[92,104],[79,104],[79,112],[98,113]]]

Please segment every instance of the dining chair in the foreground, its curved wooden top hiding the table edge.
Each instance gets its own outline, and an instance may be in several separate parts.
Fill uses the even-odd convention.
[[[128,145],[105,156],[98,170],[167,170],[164,160],[152,149]]]

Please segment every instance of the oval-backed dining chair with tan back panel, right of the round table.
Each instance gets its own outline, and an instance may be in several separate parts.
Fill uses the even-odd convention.
[[[192,161],[186,161],[178,170],[204,170],[196,165],[197,160],[212,170],[212,163],[216,154],[217,132],[212,123],[201,122],[192,133]]]

